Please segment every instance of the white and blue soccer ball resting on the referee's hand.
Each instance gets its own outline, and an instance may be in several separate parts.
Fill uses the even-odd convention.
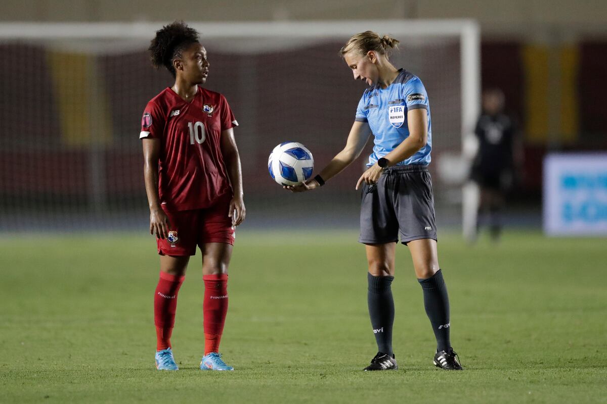
[[[272,150],[268,159],[270,176],[280,185],[301,184],[312,176],[314,158],[304,145],[283,142]]]

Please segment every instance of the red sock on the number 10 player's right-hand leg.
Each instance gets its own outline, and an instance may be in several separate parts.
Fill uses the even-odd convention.
[[[205,355],[219,352],[223,325],[228,313],[228,274],[204,275]]]

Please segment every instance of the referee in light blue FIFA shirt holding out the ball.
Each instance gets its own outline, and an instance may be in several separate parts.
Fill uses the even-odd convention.
[[[409,247],[423,293],[426,313],[436,337],[433,363],[462,369],[449,340],[449,297],[438,266],[432,182],[427,165],[432,149],[430,103],[415,75],[396,69],[388,49],[398,41],[373,31],[354,35],[341,49],[354,79],[370,88],[362,94],[344,150],[314,179],[293,192],[322,187],[358,157],[372,133],[375,147],[362,184],[361,236],[368,262],[367,302],[378,354],[365,371],[398,369],[392,351],[394,300],[390,285],[395,273],[398,236]]]

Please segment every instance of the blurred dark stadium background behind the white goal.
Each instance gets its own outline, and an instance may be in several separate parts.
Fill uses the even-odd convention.
[[[132,2],[111,7],[98,1],[55,7],[36,0],[9,7],[0,15],[5,22],[103,22],[169,21],[341,21],[368,19],[364,1],[265,2],[263,7],[240,1],[230,4],[181,2],[169,11],[160,1]],[[506,110],[521,129],[523,167],[508,196],[507,222],[539,227],[541,224],[541,179],[543,156],[550,151],[607,149],[607,29],[605,5],[598,1],[575,4],[551,2],[378,1],[376,10],[390,18],[472,18],[481,28],[481,86],[499,87],[506,94]],[[35,4],[35,7],[30,7]],[[575,13],[572,9],[575,8]],[[62,10],[59,12],[58,10]],[[120,10],[120,12],[118,12]],[[203,35],[204,35],[204,30]],[[404,39],[406,42],[405,38]],[[291,214],[300,225],[330,221],[332,225],[356,227],[358,197],[352,190],[360,168],[351,167],[331,181],[330,187],[313,196],[293,197],[271,182],[266,159],[282,141],[307,145],[318,164],[324,164],[344,143],[362,83],[353,83],[337,56],[341,42],[280,50],[262,55],[230,54],[211,48],[208,87],[222,91],[231,102],[242,126],[237,130],[245,200],[251,227],[280,227],[280,219]],[[302,58],[317,52],[330,57],[317,61],[311,70]],[[145,51],[121,55],[90,56],[103,94],[89,105],[63,105],[53,89],[58,73],[53,57],[43,44],[0,43],[0,230],[69,230],[70,228],[140,228],[147,220],[141,176],[138,123],[146,101],[171,78],[149,67]],[[444,151],[459,147],[458,118],[441,126],[440,102],[457,102],[459,87],[455,71],[441,71],[439,61],[455,59],[457,45],[443,47],[441,54],[428,51],[419,67],[432,99],[435,161]],[[334,57],[333,57],[334,56]],[[19,61],[15,68],[14,61]],[[86,61],[63,59],[78,66]],[[247,77],[243,71],[249,71]],[[263,67],[263,68],[259,68]],[[437,79],[443,80],[440,84]],[[243,80],[255,81],[243,94]],[[538,81],[539,79],[539,81]],[[65,80],[65,79],[64,79]],[[453,82],[452,90],[445,83]],[[537,83],[540,84],[537,84]],[[536,83],[535,85],[530,85]],[[443,88],[443,92],[433,89]],[[24,92],[24,88],[27,91]],[[447,90],[444,90],[447,88]],[[86,88],[82,91],[92,91]],[[444,93],[447,91],[447,94]],[[449,94],[449,91],[452,93]],[[95,98],[95,97],[93,97]],[[101,99],[103,98],[103,99]],[[280,106],[280,107],[278,107]],[[63,108],[63,110],[62,110]],[[65,110],[70,110],[66,116]],[[80,108],[80,109],[79,109]],[[97,108],[97,110],[95,110]],[[271,111],[268,113],[268,111]],[[86,116],[78,122],[78,116]],[[263,116],[262,118],[259,118]],[[100,125],[90,128],[98,119]],[[66,122],[72,125],[66,135]],[[78,127],[78,125],[81,125]],[[89,126],[87,126],[89,125]],[[90,133],[86,133],[90,131]],[[74,135],[73,133],[76,133]],[[80,133],[80,134],[78,134]],[[254,133],[254,136],[248,134]],[[455,134],[455,136],[453,136]],[[95,140],[97,139],[97,140]],[[366,153],[366,152],[365,152]],[[364,154],[365,154],[364,153]],[[93,159],[93,161],[92,161]],[[362,165],[362,159],[357,165]],[[436,164],[435,177],[439,224],[458,227],[457,205],[441,186]],[[94,175],[91,170],[101,170]],[[97,178],[99,180],[92,180]],[[95,189],[92,189],[95,188]],[[335,201],[340,203],[336,204]],[[440,213],[443,212],[443,214]],[[307,213],[312,213],[305,217]],[[317,221],[314,220],[317,218]],[[90,225],[95,223],[95,225]]]

